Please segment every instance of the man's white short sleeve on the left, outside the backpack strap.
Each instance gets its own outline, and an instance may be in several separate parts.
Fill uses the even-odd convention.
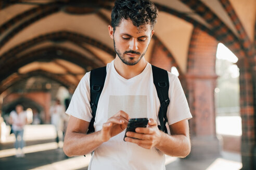
[[[66,111],[68,115],[90,122],[92,119],[92,109],[90,105],[89,77],[91,72],[87,72],[80,80],[71,98]]]

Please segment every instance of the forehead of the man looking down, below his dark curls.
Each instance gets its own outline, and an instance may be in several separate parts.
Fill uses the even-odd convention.
[[[119,26],[116,27],[116,31],[118,31],[120,34],[150,34],[151,32],[151,25],[146,24],[142,26],[135,26],[130,19],[123,19],[120,21]]]

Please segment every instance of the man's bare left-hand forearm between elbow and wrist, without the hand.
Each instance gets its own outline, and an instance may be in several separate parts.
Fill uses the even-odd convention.
[[[91,134],[70,132],[65,136],[63,151],[69,157],[85,155],[91,153],[102,143],[100,131]]]

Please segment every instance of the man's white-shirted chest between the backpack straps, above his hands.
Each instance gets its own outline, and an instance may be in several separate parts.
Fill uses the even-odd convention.
[[[120,110],[131,118],[157,120],[159,107],[156,88],[150,75],[131,81],[107,76],[98,102],[95,129],[100,129],[108,118]]]

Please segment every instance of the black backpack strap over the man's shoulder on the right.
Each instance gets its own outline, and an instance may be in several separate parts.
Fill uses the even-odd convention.
[[[153,73],[153,82],[157,89],[157,95],[160,101],[160,109],[158,113],[158,118],[160,121],[160,125],[158,128],[167,133],[167,107],[170,103],[168,91],[169,91],[169,78],[167,70],[156,67],[152,65],[152,73]]]

